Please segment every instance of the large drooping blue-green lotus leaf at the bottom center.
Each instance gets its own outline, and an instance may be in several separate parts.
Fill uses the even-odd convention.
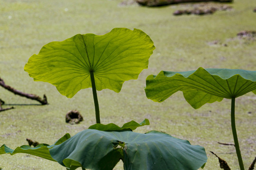
[[[124,170],[197,170],[207,161],[203,147],[157,131],[86,129],[50,153],[65,167],[92,170],[112,170],[120,159]]]

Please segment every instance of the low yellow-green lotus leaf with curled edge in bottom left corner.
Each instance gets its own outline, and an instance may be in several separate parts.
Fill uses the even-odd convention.
[[[31,146],[28,146],[28,145],[22,145],[20,147],[17,147],[15,150],[10,149],[5,144],[3,144],[0,147],[0,154],[9,153],[9,154],[13,155],[13,154],[16,154],[16,153],[27,153],[27,154],[39,156],[41,158],[45,158],[45,159],[50,160],[50,161],[55,161],[51,157],[51,155],[49,153],[49,149],[52,148],[54,145],[58,145],[58,144],[63,143],[68,138],[70,138],[70,135],[66,134],[62,138],[60,138],[57,142],[55,142],[55,144],[53,144],[53,145],[39,144],[36,147],[31,147]]]

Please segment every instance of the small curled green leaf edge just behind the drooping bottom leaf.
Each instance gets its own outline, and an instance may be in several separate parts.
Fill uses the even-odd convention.
[[[89,129],[96,129],[96,130],[102,130],[102,131],[121,131],[121,130],[135,130],[137,127],[141,127],[145,125],[149,125],[148,119],[144,119],[141,123],[137,123],[136,121],[132,120],[128,123],[125,123],[122,127],[119,127],[114,123],[110,123],[107,125],[97,123],[95,125],[91,125]]]

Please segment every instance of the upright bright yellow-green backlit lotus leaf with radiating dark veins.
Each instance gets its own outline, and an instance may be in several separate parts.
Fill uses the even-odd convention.
[[[69,98],[91,87],[90,72],[97,90],[119,92],[124,81],[137,79],[147,68],[154,49],[143,31],[114,28],[104,35],[77,34],[62,42],[50,42],[29,58],[24,69],[35,81],[51,83]]]

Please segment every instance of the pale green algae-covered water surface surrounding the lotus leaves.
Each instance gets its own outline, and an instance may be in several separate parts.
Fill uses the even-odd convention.
[[[200,5],[201,4],[201,5]],[[29,100],[0,86],[0,146],[16,148],[27,138],[39,143],[54,144],[57,139],[71,136],[95,124],[91,90],[81,90],[73,98],[61,95],[55,86],[34,82],[24,71],[33,54],[43,45],[63,41],[75,34],[103,35],[113,28],[143,30],[153,40],[154,53],[148,69],[137,80],[123,84],[119,93],[98,92],[101,123],[119,126],[135,120],[149,119],[150,126],[135,132],[150,130],[166,132],[187,139],[193,145],[205,147],[208,161],[205,170],[219,170],[219,161],[210,151],[238,170],[230,127],[230,101],[205,104],[198,110],[184,102],[180,92],[165,102],[146,98],[146,77],[161,70],[188,71],[203,68],[256,70],[256,12],[254,0],[235,0],[223,4],[228,10],[216,10],[207,15],[174,15],[177,10],[219,8],[217,2],[175,4],[163,7],[142,7],[129,0],[0,0],[0,78],[25,93],[46,94],[48,105]],[[236,99],[238,139],[247,169],[256,156],[256,97],[247,93]],[[79,110],[83,121],[68,124],[65,115]],[[219,143],[218,143],[219,142]],[[64,170],[53,161],[27,154],[0,155],[2,170]],[[122,170],[122,163],[115,170]]]

